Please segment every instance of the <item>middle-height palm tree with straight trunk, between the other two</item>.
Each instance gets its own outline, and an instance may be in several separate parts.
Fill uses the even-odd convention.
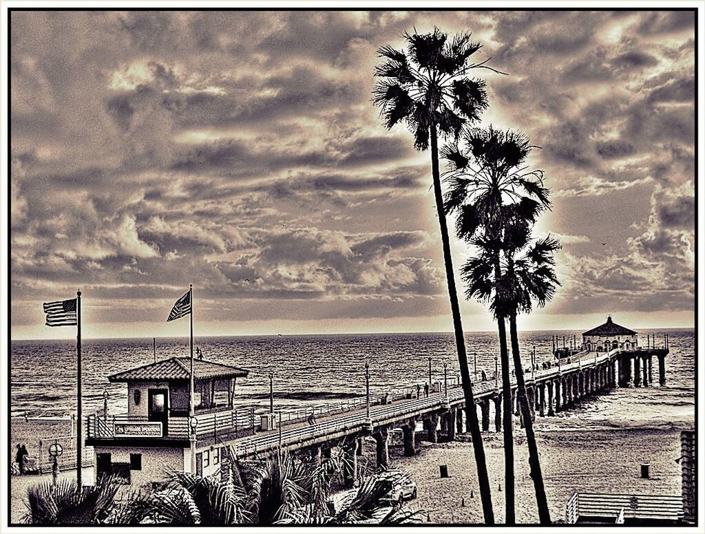
[[[501,306],[502,288],[498,286],[503,277],[501,254],[508,221],[518,218],[533,222],[550,203],[541,171],[527,171],[525,166],[532,149],[527,137],[490,126],[466,128],[459,141],[448,144],[441,153],[450,167],[446,173],[449,190],[444,209],[446,213],[457,213],[458,237],[480,247],[482,261],[486,262],[479,265],[471,259],[462,272],[466,297],[489,300],[497,321],[502,364],[505,522],[511,525],[515,523],[514,438],[507,315]],[[485,286],[488,283],[491,287]]]

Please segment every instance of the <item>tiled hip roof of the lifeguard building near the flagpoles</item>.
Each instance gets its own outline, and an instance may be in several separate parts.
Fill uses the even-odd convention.
[[[157,380],[190,380],[191,363],[187,356],[174,356],[110,375],[111,382],[154,382]],[[233,378],[247,376],[250,371],[240,367],[218,364],[215,361],[194,359],[194,379],[199,378]]]

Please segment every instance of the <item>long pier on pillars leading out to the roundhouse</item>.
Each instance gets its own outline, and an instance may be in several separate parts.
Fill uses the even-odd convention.
[[[527,397],[532,418],[554,416],[570,409],[575,402],[589,395],[599,395],[616,387],[646,387],[653,383],[654,356],[658,359],[658,382],[666,383],[665,358],[668,348],[613,349],[606,353],[581,352],[570,359],[558,361],[550,368],[525,373]],[[494,406],[494,430],[501,431],[502,387],[498,378],[473,384],[474,401],[479,406],[482,431],[489,431],[491,405]],[[516,382],[512,380],[512,409],[519,414]],[[369,418],[364,406],[347,413],[321,418],[314,424],[298,422],[246,437],[218,442],[229,445],[238,458],[263,457],[277,450],[295,452],[316,458],[327,454],[331,447],[350,451],[355,461],[360,440],[371,436],[376,442],[376,461],[380,466],[389,462],[388,441],[391,431],[403,432],[405,456],[416,453],[417,422],[423,422],[423,439],[429,442],[455,440],[457,433],[467,430],[465,398],[462,388],[448,387],[425,397],[399,400],[391,404],[371,406]],[[214,440],[215,441],[215,440]],[[215,445],[215,443],[214,443]]]

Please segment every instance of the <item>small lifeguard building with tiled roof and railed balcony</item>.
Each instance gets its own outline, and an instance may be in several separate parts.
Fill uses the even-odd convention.
[[[94,449],[95,480],[112,475],[133,487],[165,480],[173,471],[208,476],[226,454],[222,439],[238,433],[249,411],[233,407],[235,381],[246,369],[197,359],[194,414],[190,358],[173,357],[108,377],[127,384],[128,413],[87,417],[85,445]]]

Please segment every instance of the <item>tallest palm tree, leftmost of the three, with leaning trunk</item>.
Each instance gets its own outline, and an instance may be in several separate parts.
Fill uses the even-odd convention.
[[[463,125],[473,123],[487,107],[485,84],[482,80],[467,77],[472,69],[488,68],[482,63],[472,63],[470,56],[480,49],[480,44],[470,41],[470,34],[460,34],[452,40],[438,28],[428,34],[405,33],[408,51],[383,46],[378,54],[384,63],[374,75],[384,78],[374,88],[373,102],[381,108],[386,128],[405,123],[414,135],[417,150],[431,147],[431,173],[434,186],[443,243],[443,263],[448,280],[450,311],[453,313],[455,344],[462,377],[467,418],[474,448],[475,464],[482,511],[486,524],[494,524],[494,511],[490,494],[489,477],[480,434],[470,371],[465,352],[465,337],[460,319],[458,294],[455,289],[453,259],[450,255],[448,225],[443,213],[443,192],[439,170],[439,133],[443,137],[457,138]],[[492,69],[494,70],[494,69]]]

